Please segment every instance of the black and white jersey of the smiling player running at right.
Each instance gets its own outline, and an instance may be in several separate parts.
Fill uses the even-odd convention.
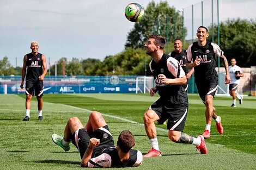
[[[187,49],[187,61],[200,60],[200,65],[194,67],[195,81],[218,81],[218,74],[215,70],[215,54],[220,57],[223,52],[216,43],[206,41],[205,46],[199,46],[198,42],[193,42]]]

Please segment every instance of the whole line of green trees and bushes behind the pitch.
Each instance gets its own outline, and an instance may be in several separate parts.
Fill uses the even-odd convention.
[[[208,28],[210,28],[208,40],[213,39],[216,43],[217,25],[214,24],[213,32],[211,26]],[[256,20],[236,18],[220,23],[220,47],[228,60],[235,58],[240,67],[256,65],[255,30]],[[150,75],[151,57],[145,54],[143,47],[149,34],[161,34],[166,38],[169,44],[164,50],[167,53],[174,50],[175,37],[181,38],[182,35],[186,35],[187,29],[182,29],[182,16],[166,1],[159,4],[150,2],[145,8],[143,20],[135,23],[127,34],[124,51],[106,56],[103,61],[93,58],[84,60],[72,58],[68,61],[66,58],[61,58],[56,65],[50,67],[51,72],[48,73],[55,75],[57,66],[57,75]],[[188,41],[185,41],[184,49],[187,49],[188,45]],[[21,75],[21,69],[21,67],[14,68],[8,56],[0,60],[0,75]]]

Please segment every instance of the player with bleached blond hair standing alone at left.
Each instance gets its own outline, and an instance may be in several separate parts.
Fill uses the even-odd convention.
[[[31,111],[31,98],[36,96],[38,100],[38,119],[42,120],[42,96],[44,92],[44,77],[47,73],[46,57],[38,53],[38,42],[31,42],[32,52],[26,54],[23,59],[23,68],[21,73],[21,89],[23,89],[26,75],[26,117],[23,121],[29,121]],[[26,74],[27,73],[27,74]]]

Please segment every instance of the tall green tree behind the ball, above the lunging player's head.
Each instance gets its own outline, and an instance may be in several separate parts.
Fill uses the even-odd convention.
[[[175,33],[177,38],[182,38],[182,16],[175,8],[169,7],[167,1],[159,4],[152,1],[145,9],[143,19],[135,23],[134,28],[127,35],[125,47],[143,47],[150,34],[161,34],[168,42],[172,42],[175,39]],[[184,35],[186,35],[186,29]]]

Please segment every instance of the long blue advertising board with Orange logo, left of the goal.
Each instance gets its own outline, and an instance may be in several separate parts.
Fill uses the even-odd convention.
[[[137,76],[46,76],[44,93],[135,93]],[[21,76],[0,77],[0,94],[22,94]]]

